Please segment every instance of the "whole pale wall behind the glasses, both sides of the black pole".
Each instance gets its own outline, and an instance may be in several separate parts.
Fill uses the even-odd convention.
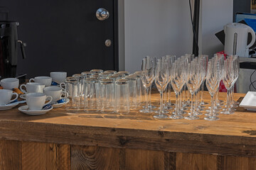
[[[201,1],[199,49],[213,54],[223,48],[214,34],[232,22],[233,0]],[[120,70],[139,70],[146,55],[179,57],[192,52],[188,0],[119,0],[119,26],[124,31],[124,37],[119,36]]]

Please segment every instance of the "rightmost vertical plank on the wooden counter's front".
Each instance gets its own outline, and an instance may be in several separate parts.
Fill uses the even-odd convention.
[[[223,156],[221,158],[220,169],[240,170],[240,169],[256,169],[256,158],[254,157],[231,157]]]

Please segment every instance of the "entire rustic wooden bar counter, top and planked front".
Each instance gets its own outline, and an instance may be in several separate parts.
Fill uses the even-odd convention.
[[[210,100],[207,92],[204,96]],[[244,96],[235,94],[235,100]],[[152,98],[159,102],[158,93]],[[36,116],[18,107],[0,111],[0,169],[256,169],[253,111],[237,108],[208,121],[204,115],[156,120],[138,111],[90,114],[64,108]]]

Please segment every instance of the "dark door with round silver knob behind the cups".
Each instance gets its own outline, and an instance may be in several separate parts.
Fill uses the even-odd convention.
[[[118,69],[117,0],[8,0],[0,6],[8,8],[9,21],[18,21],[18,38],[27,44],[26,60],[18,56],[18,74]],[[98,20],[98,8],[109,18]]]

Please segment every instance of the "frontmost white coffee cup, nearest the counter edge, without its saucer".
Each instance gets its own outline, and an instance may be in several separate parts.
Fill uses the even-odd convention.
[[[49,101],[46,103],[47,99],[49,99]],[[26,94],[26,103],[30,111],[40,111],[43,106],[46,106],[52,100],[53,98],[51,96],[46,96],[46,94],[43,93]]]

